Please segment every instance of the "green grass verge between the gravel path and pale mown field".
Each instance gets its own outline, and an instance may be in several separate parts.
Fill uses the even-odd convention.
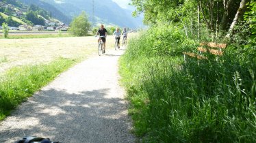
[[[0,77],[0,121],[21,102],[77,61],[57,59],[49,64],[14,67]]]

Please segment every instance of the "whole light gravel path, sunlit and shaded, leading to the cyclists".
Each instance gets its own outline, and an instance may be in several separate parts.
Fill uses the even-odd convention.
[[[135,142],[118,84],[123,50],[83,61],[35,93],[0,123],[0,142],[24,136],[55,142]]]

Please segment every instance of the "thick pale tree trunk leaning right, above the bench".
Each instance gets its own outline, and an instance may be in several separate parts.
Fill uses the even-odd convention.
[[[229,31],[225,37],[229,38],[233,34],[233,28],[235,24],[238,22],[238,20],[244,15],[244,12],[246,10],[246,3],[248,1],[250,0],[241,0],[240,7],[238,8],[238,12],[236,12],[235,18],[233,19],[233,22],[229,27]]]

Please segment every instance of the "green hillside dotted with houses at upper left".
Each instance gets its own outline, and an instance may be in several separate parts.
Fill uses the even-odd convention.
[[[54,17],[54,14],[40,7],[40,3],[38,3],[38,5],[34,3],[27,4],[22,3],[20,0],[0,1],[0,25],[2,25],[3,22],[7,23],[10,27],[18,27],[20,25],[63,25],[63,22]],[[52,7],[52,10],[56,10],[57,12],[55,12],[55,14],[57,14],[57,16],[63,16],[63,20],[66,18],[67,23],[71,21],[71,19],[49,3],[44,3],[44,5],[48,8]]]

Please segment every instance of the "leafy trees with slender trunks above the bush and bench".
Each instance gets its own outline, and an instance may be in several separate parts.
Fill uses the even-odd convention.
[[[183,27],[187,37],[195,36],[196,31],[200,37],[200,28],[206,28],[211,35],[231,31],[249,1],[252,0],[131,0],[131,4],[136,6],[133,16],[143,13],[147,25],[172,23]]]

